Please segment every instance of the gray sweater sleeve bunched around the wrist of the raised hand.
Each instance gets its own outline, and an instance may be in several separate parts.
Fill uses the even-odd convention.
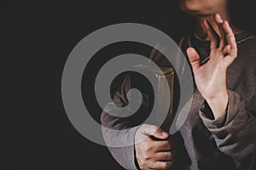
[[[248,105],[239,94],[229,90],[227,111],[217,119],[211,119],[208,109],[200,111],[200,116],[207,129],[212,133],[218,149],[233,158],[240,169],[252,165],[255,159],[256,145],[256,98]]]

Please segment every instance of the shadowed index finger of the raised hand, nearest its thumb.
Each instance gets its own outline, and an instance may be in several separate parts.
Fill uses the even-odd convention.
[[[203,20],[203,26],[205,28],[205,31],[207,31],[207,36],[211,40],[211,49],[218,47],[218,34],[214,29],[212,28],[212,25],[207,21]]]

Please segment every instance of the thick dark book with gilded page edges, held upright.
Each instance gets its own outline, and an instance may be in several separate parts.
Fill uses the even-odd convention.
[[[159,67],[159,70],[154,65],[134,65],[134,67],[138,72],[146,73],[144,76],[140,73],[134,73],[131,77],[131,88],[137,88],[142,94],[141,96],[138,94],[133,95],[133,100],[142,103],[138,110],[139,114],[143,114],[141,117],[145,120],[149,114],[154,113],[153,120],[146,123],[160,125],[166,132],[169,132],[173,120],[173,68]],[[145,76],[151,77],[151,82]],[[167,84],[164,83],[165,79]],[[170,94],[166,94],[167,88]],[[170,103],[166,103],[168,97],[170,97]],[[155,110],[153,110],[154,104]],[[166,105],[168,105],[167,114],[164,109]]]

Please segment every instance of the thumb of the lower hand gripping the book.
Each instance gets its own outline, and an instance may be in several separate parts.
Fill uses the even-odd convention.
[[[143,133],[148,136],[154,136],[157,139],[167,139],[169,137],[169,133],[166,133],[160,127],[148,124],[144,125]]]

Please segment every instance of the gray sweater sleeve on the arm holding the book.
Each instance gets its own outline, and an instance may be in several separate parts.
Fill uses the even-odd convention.
[[[113,102],[108,103],[102,111],[102,136],[108,146],[113,158],[125,169],[137,169],[134,138],[139,126],[132,126],[131,122],[125,117],[111,116],[108,113],[118,111],[117,107],[124,107],[128,104],[127,92],[131,88],[130,75],[125,77],[121,88],[114,94]],[[106,112],[105,112],[106,111]],[[126,109],[125,111],[128,111]],[[119,114],[124,114],[120,110]]]

